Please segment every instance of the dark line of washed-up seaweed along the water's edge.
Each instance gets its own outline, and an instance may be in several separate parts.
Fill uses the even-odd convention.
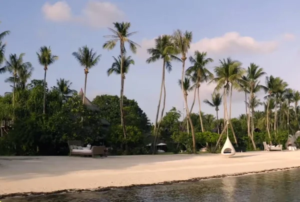
[[[300,166],[293,166],[293,167],[284,167],[284,168],[273,168],[273,169],[265,169],[261,171],[250,171],[250,172],[237,172],[232,174],[220,174],[220,175],[213,175],[207,177],[194,177],[185,180],[171,180],[171,181],[163,181],[158,183],[150,183],[150,184],[131,184],[127,186],[107,186],[107,187],[97,187],[97,188],[86,188],[86,189],[62,189],[50,192],[16,192],[16,193],[7,193],[1,194],[0,199],[8,198],[8,197],[20,197],[20,196],[32,196],[32,195],[49,195],[49,194],[58,194],[58,193],[79,193],[79,192],[103,192],[108,191],[111,189],[130,189],[136,187],[146,187],[146,186],[155,186],[155,185],[170,185],[180,182],[196,182],[205,179],[217,179],[217,178],[225,178],[230,176],[241,176],[246,174],[257,174],[257,173],[265,173],[265,172],[274,172],[274,171],[283,171],[283,170],[291,170],[291,169],[298,169]]]

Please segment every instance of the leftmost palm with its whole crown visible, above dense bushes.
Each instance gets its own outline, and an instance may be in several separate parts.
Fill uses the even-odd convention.
[[[8,60],[6,60],[5,62],[5,66],[2,67],[3,69],[5,69],[5,71],[11,73],[13,77],[12,106],[14,105],[15,84],[17,81],[17,74],[24,68],[32,68],[30,62],[23,62],[24,55],[25,53],[21,53],[19,56],[17,56],[16,54],[10,54]],[[6,82],[9,80],[11,79],[6,79]]]

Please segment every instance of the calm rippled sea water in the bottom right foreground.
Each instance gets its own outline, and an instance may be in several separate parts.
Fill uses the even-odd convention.
[[[143,188],[28,196],[2,202],[83,202],[83,201],[300,201],[300,170],[252,174],[199,182],[157,185]]]

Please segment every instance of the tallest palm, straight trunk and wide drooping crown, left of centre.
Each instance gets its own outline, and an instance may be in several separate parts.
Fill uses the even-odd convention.
[[[139,46],[137,43],[130,40],[128,37],[135,34],[136,31],[129,32],[130,22],[113,22],[114,28],[108,28],[113,34],[105,35],[104,37],[111,38],[103,44],[104,49],[111,50],[115,47],[116,43],[120,42],[120,56],[123,58],[123,55],[126,52],[125,43],[129,44],[129,48],[133,53],[136,53],[136,46]],[[121,112],[121,125],[123,128],[124,137],[126,138],[126,128],[124,125],[124,113],[123,113],[123,87],[124,87],[124,79],[123,79],[123,60],[121,59],[121,90],[120,90],[120,112]],[[126,149],[127,150],[127,149]]]

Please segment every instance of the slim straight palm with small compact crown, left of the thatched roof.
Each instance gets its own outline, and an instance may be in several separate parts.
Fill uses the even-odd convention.
[[[55,60],[58,59],[58,56],[53,55],[50,46],[41,46],[39,48],[39,52],[36,52],[37,59],[40,65],[43,66],[43,69],[45,71],[44,73],[44,83],[43,83],[43,88],[44,88],[44,94],[43,94],[43,109],[42,112],[45,114],[46,112],[46,73],[48,66],[52,63],[54,63]]]

